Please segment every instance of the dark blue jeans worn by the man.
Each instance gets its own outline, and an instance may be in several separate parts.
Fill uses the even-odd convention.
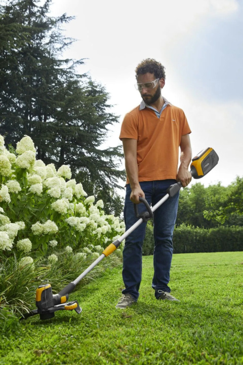
[[[175,184],[176,180],[155,180],[141,181],[140,186],[145,194],[148,204],[155,205],[166,195],[166,190],[170,185]],[[134,204],[130,200],[131,187],[126,186],[126,198],[124,207],[124,218],[126,230],[137,222],[138,218],[134,212]],[[170,281],[170,269],[173,253],[173,231],[176,222],[179,193],[173,198],[166,200],[154,211],[153,233],[154,233],[154,252],[153,267],[154,275],[152,288],[155,290],[155,297],[158,299],[158,290],[168,291]],[[140,203],[138,211],[145,211],[146,207]],[[139,297],[139,287],[142,278],[142,246],[145,237],[146,223],[142,223],[127,238],[123,250],[123,281],[125,289],[123,294],[131,294],[137,301]]]

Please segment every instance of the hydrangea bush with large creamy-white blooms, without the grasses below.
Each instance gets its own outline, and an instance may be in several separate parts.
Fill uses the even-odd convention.
[[[68,166],[57,170],[35,153],[30,137],[14,154],[0,135],[0,254],[15,254],[23,264],[38,257],[56,263],[58,252],[97,258],[124,233],[124,223],[104,213],[102,200],[87,197]]]

